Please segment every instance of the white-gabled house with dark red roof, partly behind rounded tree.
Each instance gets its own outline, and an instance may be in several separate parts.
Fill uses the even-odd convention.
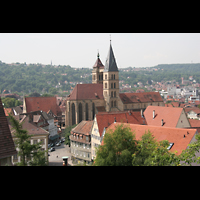
[[[146,120],[141,111],[99,112],[95,115],[91,129],[91,156],[96,157],[96,148],[101,144],[106,128],[113,122],[145,125]]]

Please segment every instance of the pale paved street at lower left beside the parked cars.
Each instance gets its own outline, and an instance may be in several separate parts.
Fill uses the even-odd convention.
[[[69,156],[68,164],[72,165],[71,162],[71,153],[68,145],[61,143],[60,146],[54,146],[55,151],[48,152],[49,153],[49,166],[63,166],[63,156]],[[58,156],[58,157],[57,157]]]

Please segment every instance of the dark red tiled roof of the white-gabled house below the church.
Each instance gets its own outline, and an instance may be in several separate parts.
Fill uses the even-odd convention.
[[[110,126],[115,120],[116,122],[133,123],[133,124],[147,124],[146,120],[141,117],[140,111],[120,111],[120,112],[105,112],[96,114],[97,124],[100,136],[104,128]]]

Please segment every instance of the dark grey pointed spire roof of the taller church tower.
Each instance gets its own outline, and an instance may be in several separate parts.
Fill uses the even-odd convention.
[[[110,48],[108,51],[108,56],[106,58],[104,71],[105,72],[116,72],[116,71],[118,72],[117,63],[115,61],[115,56],[114,56],[111,44],[110,44]]]

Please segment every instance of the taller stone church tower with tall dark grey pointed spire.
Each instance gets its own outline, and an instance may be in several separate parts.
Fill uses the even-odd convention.
[[[111,41],[103,71],[103,96],[106,102],[106,112],[119,111],[119,71],[115,61]]]

